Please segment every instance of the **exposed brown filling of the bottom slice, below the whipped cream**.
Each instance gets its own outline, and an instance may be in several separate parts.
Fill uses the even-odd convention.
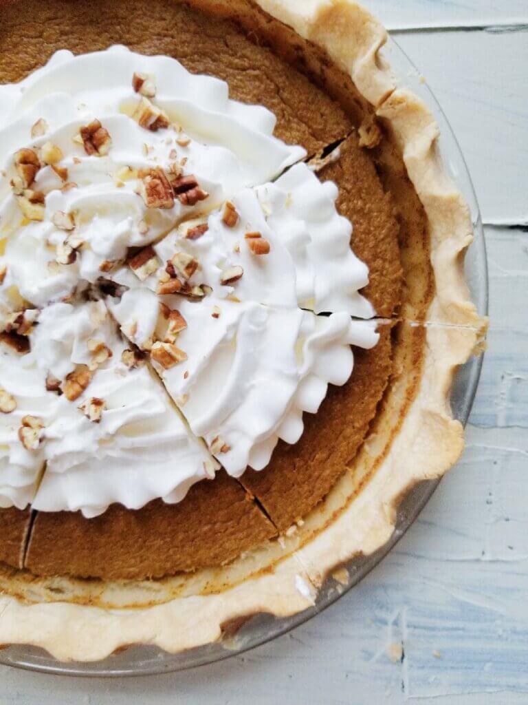
[[[36,575],[161,577],[232,560],[275,533],[238,482],[220,472],[177,504],[156,500],[137,511],[114,504],[94,519],[39,512],[25,567]]]

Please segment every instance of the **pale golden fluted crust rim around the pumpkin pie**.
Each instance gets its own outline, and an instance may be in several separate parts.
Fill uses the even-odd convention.
[[[4,596],[1,643],[35,644],[56,658],[94,661],[134,643],[181,651],[218,639],[222,625],[241,615],[301,611],[313,604],[314,586],[335,565],[358,552],[371,553],[389,539],[398,500],[407,489],[441,476],[462,452],[462,427],[449,409],[451,383],[456,367],[478,350],[486,321],[470,301],[463,278],[460,255],[472,240],[472,224],[467,204],[439,163],[434,117],[420,99],[396,88],[390,67],[379,56],[386,32],[365,9],[346,0],[258,4],[346,68],[401,147],[429,219],[436,280],[420,391],[389,454],[358,500],[274,572],[220,594],[121,613],[64,603],[25,605]],[[410,448],[417,434],[420,443],[413,443],[411,452],[398,452]]]

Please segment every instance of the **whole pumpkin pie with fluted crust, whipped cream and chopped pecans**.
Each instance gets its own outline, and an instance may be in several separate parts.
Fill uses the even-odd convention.
[[[434,118],[351,1],[2,19],[0,427],[32,447],[0,466],[0,642],[94,660],[301,611],[462,450],[485,321]]]

